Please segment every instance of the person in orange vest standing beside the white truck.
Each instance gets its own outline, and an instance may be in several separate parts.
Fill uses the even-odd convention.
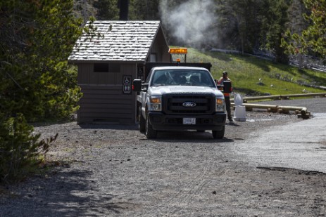
[[[222,72],[222,77],[218,79],[217,81],[218,87],[220,91],[223,91],[223,95],[225,98],[225,106],[227,109],[227,119],[229,121],[233,121],[232,115],[231,115],[231,102],[230,102],[230,93],[232,93],[233,88],[232,88],[232,81],[227,77],[227,72],[224,71]]]

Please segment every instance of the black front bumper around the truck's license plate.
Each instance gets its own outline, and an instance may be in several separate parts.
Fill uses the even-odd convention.
[[[177,115],[149,112],[149,121],[156,131],[213,130],[220,131],[225,126],[227,114],[215,112],[205,115]],[[184,118],[195,118],[196,124],[183,124]]]

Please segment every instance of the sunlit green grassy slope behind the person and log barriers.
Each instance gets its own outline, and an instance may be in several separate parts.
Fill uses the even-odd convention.
[[[187,63],[211,63],[211,72],[215,79],[227,71],[234,92],[251,96],[325,92],[322,89],[311,88],[297,84],[305,81],[307,84],[326,86],[326,73],[313,70],[300,70],[297,67],[273,63],[249,55],[234,55],[218,52],[200,52],[188,48]],[[258,85],[260,82],[264,85]],[[287,79],[288,81],[285,81]],[[289,81],[291,80],[291,81]]]

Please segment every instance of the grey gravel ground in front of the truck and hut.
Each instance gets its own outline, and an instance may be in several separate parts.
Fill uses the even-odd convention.
[[[316,116],[326,108],[325,98],[271,103]],[[0,216],[325,216],[325,173],[256,167],[234,150],[304,120],[265,111],[246,119],[227,122],[222,140],[195,131],[147,140],[135,125],[38,126],[45,138],[59,135],[48,155],[56,167],[0,185]]]

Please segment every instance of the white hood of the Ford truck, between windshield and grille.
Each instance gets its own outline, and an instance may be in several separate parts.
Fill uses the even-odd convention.
[[[152,86],[149,89],[151,96],[162,96],[168,93],[175,94],[207,94],[211,93],[215,96],[223,96],[217,89],[208,86]]]

